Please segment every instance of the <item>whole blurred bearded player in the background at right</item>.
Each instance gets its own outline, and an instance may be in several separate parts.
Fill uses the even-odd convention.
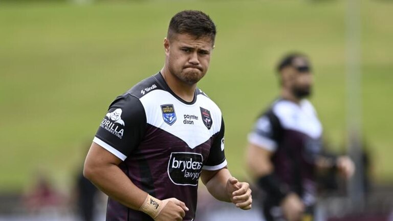
[[[313,220],[317,169],[337,168],[350,178],[354,164],[346,156],[322,154],[322,126],[305,99],[313,85],[309,59],[300,53],[288,54],[277,71],[280,95],[248,136],[248,167],[257,186],[266,192],[266,220]]]

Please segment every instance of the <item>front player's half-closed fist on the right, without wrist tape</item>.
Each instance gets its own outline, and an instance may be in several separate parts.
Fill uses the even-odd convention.
[[[236,178],[227,181],[227,193],[231,202],[243,210],[251,209],[252,196],[250,185],[246,182],[238,182]]]

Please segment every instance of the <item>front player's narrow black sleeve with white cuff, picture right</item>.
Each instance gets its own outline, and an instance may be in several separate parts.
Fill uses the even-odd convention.
[[[209,157],[202,167],[204,170],[219,170],[227,166],[224,151],[224,133],[225,125],[224,119],[221,119],[220,131],[214,136],[213,144],[210,148]]]

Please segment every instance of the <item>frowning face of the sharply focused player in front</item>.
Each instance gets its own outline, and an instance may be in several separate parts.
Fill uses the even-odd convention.
[[[209,37],[195,39],[188,34],[173,34],[164,40],[166,66],[180,81],[193,85],[205,76],[213,43]]]

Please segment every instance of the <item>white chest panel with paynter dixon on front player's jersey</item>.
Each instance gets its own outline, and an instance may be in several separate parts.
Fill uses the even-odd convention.
[[[185,104],[167,91],[155,90],[140,98],[140,101],[145,108],[148,124],[182,139],[192,149],[220,131],[221,111],[213,101],[203,95],[198,95],[195,103]],[[173,122],[171,119],[171,124],[164,120],[162,105],[173,106],[176,120]],[[203,123],[200,107],[210,112],[210,129]]]

